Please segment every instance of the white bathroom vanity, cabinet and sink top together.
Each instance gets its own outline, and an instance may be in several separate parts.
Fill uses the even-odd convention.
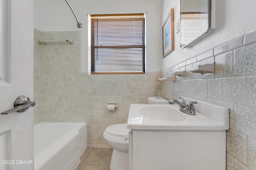
[[[129,170],[226,170],[228,108],[197,102],[196,115],[178,105],[131,105]]]

